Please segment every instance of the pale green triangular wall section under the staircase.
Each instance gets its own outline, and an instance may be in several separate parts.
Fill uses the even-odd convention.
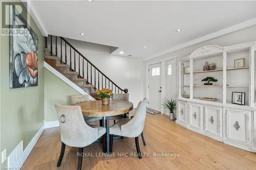
[[[70,95],[80,94],[47,68],[45,74],[45,122],[58,120],[54,104],[70,105]]]

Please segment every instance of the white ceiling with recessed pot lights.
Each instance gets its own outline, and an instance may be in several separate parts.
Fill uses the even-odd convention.
[[[256,17],[255,1],[32,1],[47,34],[154,54]],[[181,32],[176,32],[182,29]],[[79,33],[84,33],[81,36]],[[144,48],[147,46],[147,48]]]

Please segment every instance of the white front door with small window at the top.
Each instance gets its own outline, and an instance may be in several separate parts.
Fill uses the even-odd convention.
[[[148,108],[161,111],[161,63],[150,65],[148,79]]]

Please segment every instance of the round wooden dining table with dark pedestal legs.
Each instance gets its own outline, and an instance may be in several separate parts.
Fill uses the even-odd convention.
[[[133,110],[133,103],[122,100],[110,100],[109,105],[102,105],[100,100],[77,104],[81,107],[83,116],[104,117],[106,119],[106,153],[110,153],[110,122],[109,117],[128,113]],[[104,124],[104,121],[103,121]]]

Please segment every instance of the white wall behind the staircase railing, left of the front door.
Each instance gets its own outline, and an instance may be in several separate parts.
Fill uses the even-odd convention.
[[[108,76],[120,88],[127,88],[130,94],[130,101],[137,106],[139,101],[143,99],[143,61],[132,57],[121,57],[110,54],[110,46],[95,44],[90,42],[78,41],[66,38],[82,55],[89,59],[103,74]],[[60,39],[57,39],[58,44]],[[50,48],[50,38],[48,38],[48,48]],[[53,53],[55,53],[55,37],[53,38]],[[65,52],[65,43],[62,41],[62,55]],[[71,52],[73,58],[73,50]],[[60,56],[60,46],[58,45],[58,56]],[[76,54],[77,57],[77,54]],[[67,45],[67,59],[69,63],[70,48]],[[73,61],[72,61],[73,62]],[[76,60],[76,70],[78,71],[78,61]],[[73,66],[72,66],[73,67]],[[82,63],[80,63],[82,68]],[[86,63],[84,63],[86,69]],[[94,69],[92,69],[94,75]],[[86,72],[84,72],[86,74]],[[96,71],[96,85],[98,75]],[[89,66],[89,81],[90,81],[90,66]],[[94,77],[93,77],[94,82]],[[103,80],[104,82],[104,80]],[[101,76],[100,76],[101,87]],[[103,83],[104,87],[104,83]],[[108,81],[106,82],[108,88]],[[111,88],[111,84],[110,84]],[[115,92],[115,91],[114,91]]]

